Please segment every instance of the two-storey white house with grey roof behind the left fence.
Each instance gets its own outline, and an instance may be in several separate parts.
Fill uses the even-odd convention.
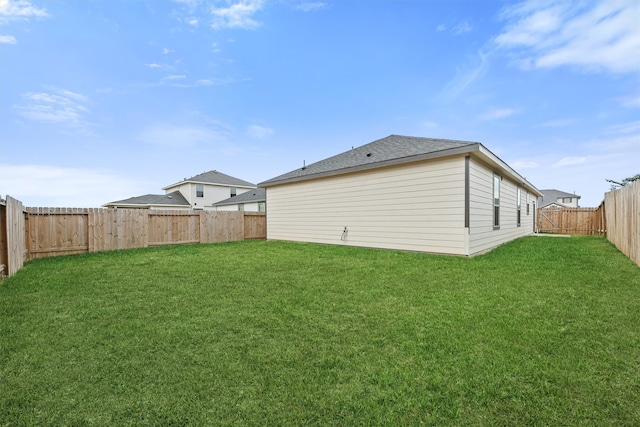
[[[102,205],[107,208],[215,210],[214,203],[241,195],[255,184],[216,170],[163,188],[165,194],[147,194]]]

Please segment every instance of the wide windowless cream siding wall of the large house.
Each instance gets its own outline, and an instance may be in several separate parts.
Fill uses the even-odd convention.
[[[457,156],[269,187],[267,238],[464,255],[464,164]]]

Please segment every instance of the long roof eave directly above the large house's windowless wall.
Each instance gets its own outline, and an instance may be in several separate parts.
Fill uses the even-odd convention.
[[[268,181],[258,183],[258,187],[273,187],[276,185],[289,184],[293,182],[307,181],[307,180],[318,179],[318,178],[326,178],[329,176],[343,175],[343,174],[352,173],[352,172],[361,172],[365,170],[378,169],[378,168],[387,167],[387,166],[396,166],[396,165],[402,165],[405,163],[414,163],[414,162],[420,162],[423,160],[437,159],[440,157],[467,154],[467,153],[479,151],[481,145],[482,144],[476,142],[473,144],[465,145],[463,147],[449,148],[446,150],[434,151],[431,153],[419,154],[415,156],[399,157],[396,159],[389,159],[381,162],[367,163],[364,165],[352,166],[352,167],[347,167],[342,169],[335,169],[335,170],[325,171],[325,172],[318,172],[314,174],[296,176],[296,177],[285,178],[281,180],[268,180]]]

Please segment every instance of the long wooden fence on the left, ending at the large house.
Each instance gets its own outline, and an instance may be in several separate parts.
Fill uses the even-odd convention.
[[[25,208],[7,196],[0,204],[0,273],[47,256],[265,238],[264,212]]]

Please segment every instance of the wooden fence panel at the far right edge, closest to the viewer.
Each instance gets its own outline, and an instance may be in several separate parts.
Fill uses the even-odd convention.
[[[640,266],[640,182],[604,195],[607,239]]]

